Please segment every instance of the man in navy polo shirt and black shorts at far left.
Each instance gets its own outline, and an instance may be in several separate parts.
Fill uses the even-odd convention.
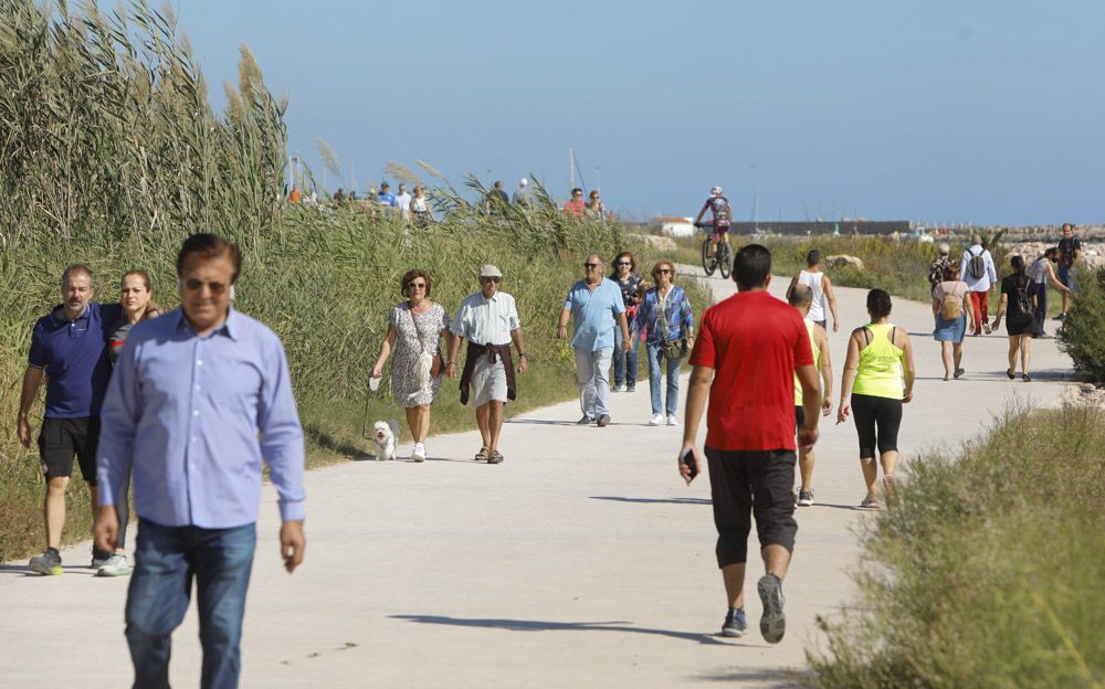
[[[99,439],[99,407],[112,377],[107,330],[123,316],[118,304],[93,301],[92,271],[75,264],[62,273],[62,306],[34,324],[31,351],[27,357],[23,392],[19,404],[19,441],[31,446],[28,414],[39,393],[42,374],[46,382],[46,413],[39,433],[39,455],[46,477],[43,506],[46,550],[31,558],[32,572],[61,574],[62,530],[65,527],[65,488],[73,471],[73,457],[96,508],[96,443]],[[109,552],[93,549],[92,568],[107,561]]]

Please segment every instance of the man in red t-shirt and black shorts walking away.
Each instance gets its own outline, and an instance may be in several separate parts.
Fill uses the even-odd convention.
[[[729,603],[722,635],[744,636],[748,628],[745,563],[755,515],[767,570],[757,584],[764,602],[760,633],[777,644],[786,632],[782,580],[798,531],[792,492],[794,375],[804,400],[806,421],[798,431],[802,447],[818,439],[821,385],[801,316],[767,292],[771,253],[758,244],[741,248],[733,261],[733,279],[737,294],[706,309],[691,353],[694,370],[678,466],[687,484],[702,470],[695,436],[708,396],[705,449],[717,565]]]

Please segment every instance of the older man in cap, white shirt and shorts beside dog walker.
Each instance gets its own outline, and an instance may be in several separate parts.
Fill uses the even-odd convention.
[[[511,343],[518,351],[518,371],[525,373],[525,344],[522,321],[512,295],[502,292],[503,272],[487,264],[480,267],[480,292],[469,295],[453,317],[450,331],[456,336],[449,344],[445,373],[456,374],[456,356],[461,339],[469,342],[461,374],[461,403],[467,404],[470,388],[474,392],[476,425],[483,445],[477,462],[499,464],[498,438],[503,431],[503,411],[508,400],[517,399],[514,360]]]

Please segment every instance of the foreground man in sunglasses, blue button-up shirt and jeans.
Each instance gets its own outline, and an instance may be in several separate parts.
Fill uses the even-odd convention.
[[[186,240],[181,307],[135,326],[104,402],[93,536],[113,548],[133,469],[138,544],[126,638],[136,687],[169,686],[170,639],[193,579],[201,686],[238,686],[262,462],[278,496],[284,566],[303,562],[303,430],[280,339],[230,307],[240,267],[225,240]]]

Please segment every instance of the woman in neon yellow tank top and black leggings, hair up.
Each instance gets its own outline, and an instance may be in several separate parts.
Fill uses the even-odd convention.
[[[883,466],[883,488],[894,480],[897,464],[897,433],[902,424],[902,405],[913,400],[913,365],[909,333],[888,321],[891,296],[882,289],[867,293],[871,322],[852,331],[848,341],[848,359],[840,382],[840,407],[836,423],[855,413],[855,431],[860,436],[860,466],[867,495],[860,507],[878,507],[875,484],[878,448]]]

